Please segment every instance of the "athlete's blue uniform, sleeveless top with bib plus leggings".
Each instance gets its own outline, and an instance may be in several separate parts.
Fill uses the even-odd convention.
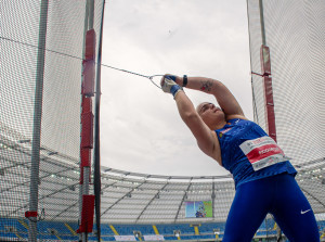
[[[314,214],[295,180],[297,171],[273,139],[244,119],[231,119],[216,132],[222,165],[236,187],[223,242],[250,242],[268,213],[290,241],[318,242]]]

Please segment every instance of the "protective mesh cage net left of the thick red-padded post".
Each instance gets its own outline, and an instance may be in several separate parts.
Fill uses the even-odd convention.
[[[38,193],[38,240],[57,240],[58,230],[63,235],[77,235],[84,36],[93,21],[98,56],[104,4],[94,2],[91,20],[90,2],[0,1],[1,241],[28,240],[30,222],[25,212],[32,192]],[[48,5],[47,21],[42,4]],[[42,28],[46,31],[40,35]],[[40,47],[42,40],[46,50]],[[41,77],[42,99],[36,93]],[[30,175],[35,139],[40,139],[39,177]],[[30,190],[31,180],[37,180],[38,191]]]

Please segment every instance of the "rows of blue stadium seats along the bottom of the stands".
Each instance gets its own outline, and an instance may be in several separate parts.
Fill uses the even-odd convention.
[[[27,219],[0,218],[0,240],[28,240]],[[116,241],[115,235],[134,235],[138,231],[142,238],[135,238],[136,241],[144,240],[144,235],[155,235],[154,225],[101,225],[102,241]],[[218,238],[221,239],[224,232],[224,222],[208,224],[172,224],[155,225],[160,235],[168,241],[197,241],[197,240],[216,240],[214,231],[218,231]],[[197,227],[195,234],[194,227]],[[38,221],[38,239],[46,241],[78,241],[77,222],[66,221]],[[325,228],[325,221],[318,221],[320,232]],[[114,231],[115,230],[115,231]],[[95,231],[95,225],[94,230]],[[176,231],[179,232],[177,237]],[[117,232],[117,234],[116,234]],[[256,240],[276,237],[276,226],[272,219],[263,221],[256,233]],[[90,233],[89,241],[96,241],[95,233]]]

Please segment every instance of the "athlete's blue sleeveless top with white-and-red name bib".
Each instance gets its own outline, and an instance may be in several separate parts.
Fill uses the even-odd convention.
[[[277,174],[297,174],[276,142],[256,123],[231,119],[216,132],[222,165],[233,175],[236,188]]]

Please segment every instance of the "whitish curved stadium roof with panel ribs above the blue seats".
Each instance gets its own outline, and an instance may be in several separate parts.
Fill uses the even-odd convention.
[[[0,215],[24,218],[29,206],[30,140],[8,129],[5,133],[0,132]],[[40,218],[77,221],[78,160],[43,147],[40,154]],[[315,214],[325,213],[324,158],[296,168],[297,180]],[[107,167],[102,167],[101,174],[101,220],[105,224],[224,221],[235,193],[231,176],[160,176]],[[90,193],[93,193],[92,186]],[[211,201],[212,217],[186,218],[188,201]]]

